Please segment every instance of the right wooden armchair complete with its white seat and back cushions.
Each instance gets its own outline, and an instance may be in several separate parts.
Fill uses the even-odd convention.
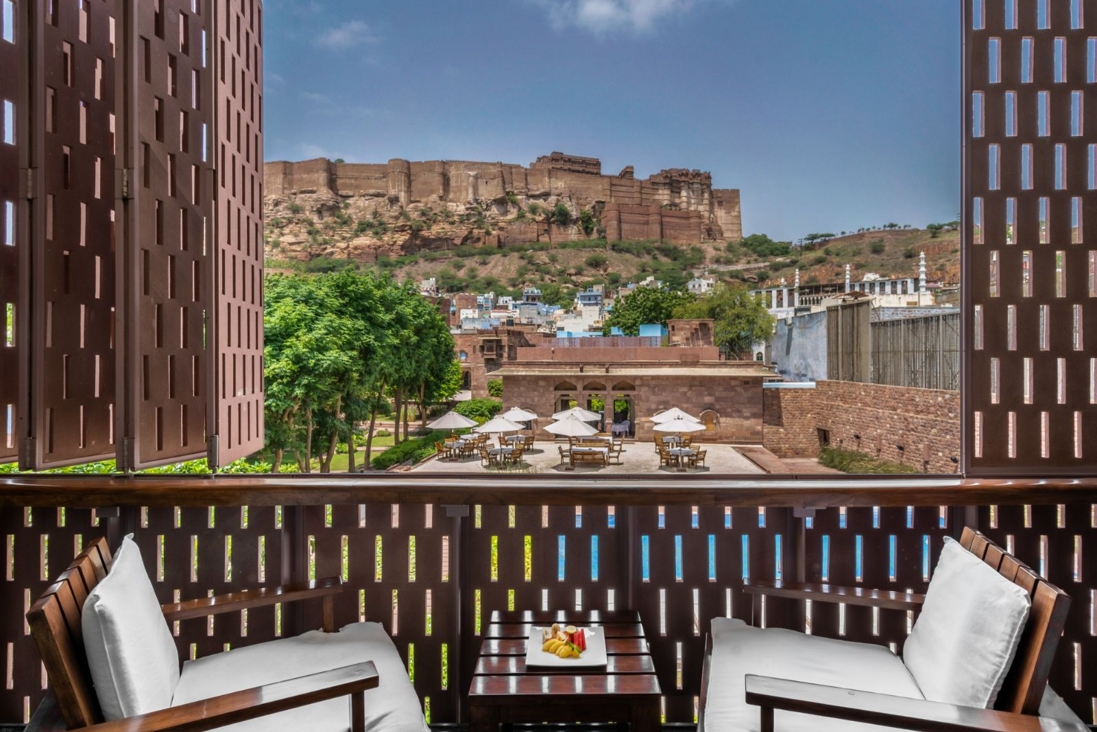
[[[1070,597],[977,531],[965,528],[960,542],[950,543],[947,540],[942,551],[942,560],[948,553],[947,567],[942,570],[945,562],[939,562],[934,573],[940,584],[935,588],[930,582],[926,595],[745,582],[744,589],[755,596],[756,605],[769,597],[925,611],[902,658],[882,645],[713,619],[705,639],[699,731],[861,729],[814,718],[911,730],[1085,730],[1072,720],[1033,717],[1048,686]],[[976,560],[964,559],[964,552]],[[979,568],[982,564],[993,572]],[[973,607],[980,597],[988,608],[983,612]],[[1022,605],[1026,597],[1029,604]],[[962,605],[952,608],[951,601]],[[1027,616],[1018,607],[1027,608]],[[989,608],[995,615],[987,618]],[[983,624],[972,624],[979,622]],[[919,623],[926,623],[920,633]],[[765,660],[766,676],[751,671],[759,667],[759,658]],[[952,665],[942,661],[949,658]],[[959,705],[941,698],[950,695],[986,703]],[[779,712],[776,727],[774,711]]]

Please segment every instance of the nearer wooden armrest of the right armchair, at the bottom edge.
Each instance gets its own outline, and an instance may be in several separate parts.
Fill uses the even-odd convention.
[[[790,682],[769,676],[746,677],[746,700],[762,708],[762,732],[773,730],[773,710],[794,711],[850,722],[903,730],[945,732],[1087,732],[1085,727],[1032,714],[958,707],[924,699],[856,691],[834,686]],[[769,727],[767,727],[767,719]]]

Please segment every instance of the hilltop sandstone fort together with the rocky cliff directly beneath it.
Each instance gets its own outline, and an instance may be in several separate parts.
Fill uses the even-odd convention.
[[[268,256],[375,261],[461,245],[665,239],[736,240],[737,190],[713,189],[699,170],[637,179],[631,166],[553,153],[528,167],[433,160],[352,164],[324,158],[268,162]]]

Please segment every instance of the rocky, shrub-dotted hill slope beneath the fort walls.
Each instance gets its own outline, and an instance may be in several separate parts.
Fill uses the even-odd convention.
[[[934,236],[925,229],[878,230],[830,239],[815,247],[778,246],[754,251],[739,243],[706,241],[680,246],[659,241],[613,241],[590,238],[498,246],[493,233],[516,218],[545,217],[551,211],[531,206],[454,215],[436,206],[412,204],[394,211],[358,212],[338,199],[268,196],[268,268],[323,271],[344,267],[391,271],[399,280],[437,278],[446,292],[520,291],[525,284],[550,285],[569,293],[592,284],[615,285],[654,275],[671,286],[708,272],[734,282],[841,281],[845,267],[855,280],[872,272],[881,277],[916,277],[918,252],[925,251],[930,281],[958,282],[958,232]],[[510,206],[514,209],[514,206]],[[573,224],[577,230],[581,224]],[[597,236],[597,221],[588,225]],[[462,241],[453,246],[453,241]],[[437,246],[445,241],[444,246]],[[380,246],[378,246],[380,245]],[[774,256],[777,255],[777,256]],[[553,286],[555,285],[555,286]]]

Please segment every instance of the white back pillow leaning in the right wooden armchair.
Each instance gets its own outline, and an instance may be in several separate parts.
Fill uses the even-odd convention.
[[[903,662],[930,701],[989,709],[1028,621],[1028,593],[950,538]]]

